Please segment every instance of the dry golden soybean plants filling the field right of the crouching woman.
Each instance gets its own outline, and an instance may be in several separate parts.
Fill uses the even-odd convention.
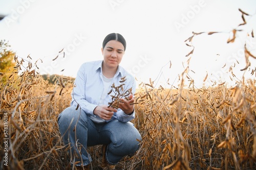
[[[232,88],[144,88],[136,106],[141,169],[255,169],[255,81]]]

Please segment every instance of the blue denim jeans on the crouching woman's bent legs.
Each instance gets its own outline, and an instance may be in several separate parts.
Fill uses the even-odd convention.
[[[87,114],[76,107],[68,107],[58,116],[58,126],[64,143],[71,144],[71,155],[77,154],[76,161],[87,165],[92,161],[87,147],[107,144],[106,160],[117,164],[124,156],[132,155],[139,149],[140,133],[130,122],[114,119],[108,123],[96,124]],[[76,142],[77,141],[77,142]]]

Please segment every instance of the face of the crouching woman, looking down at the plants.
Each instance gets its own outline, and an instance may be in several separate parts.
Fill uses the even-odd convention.
[[[116,40],[111,40],[106,43],[104,48],[101,48],[103,55],[103,64],[107,68],[117,68],[124,54],[123,44]]]

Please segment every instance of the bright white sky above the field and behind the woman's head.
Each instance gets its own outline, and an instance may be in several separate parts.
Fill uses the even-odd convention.
[[[253,16],[245,16],[248,23],[239,28],[244,31],[227,44],[229,32],[243,23],[239,8]],[[193,71],[188,74],[198,87],[206,74],[205,83],[219,77],[230,83],[226,72],[234,63],[233,72],[239,78],[245,67],[245,41],[256,55],[256,40],[247,36],[252,29],[256,34],[254,0],[0,0],[0,15],[6,15],[0,21],[0,38],[8,40],[19,57],[30,55],[32,63],[40,58],[41,74],[75,77],[83,62],[102,59],[102,41],[113,32],[127,42],[121,65],[139,81],[148,83],[151,78],[157,86],[168,79],[177,85],[177,76],[187,65],[185,56],[192,50],[184,41],[193,31],[223,32],[193,38],[195,50],[189,56]],[[61,52],[52,61],[62,48],[65,58]],[[250,61],[254,69],[255,59]]]

